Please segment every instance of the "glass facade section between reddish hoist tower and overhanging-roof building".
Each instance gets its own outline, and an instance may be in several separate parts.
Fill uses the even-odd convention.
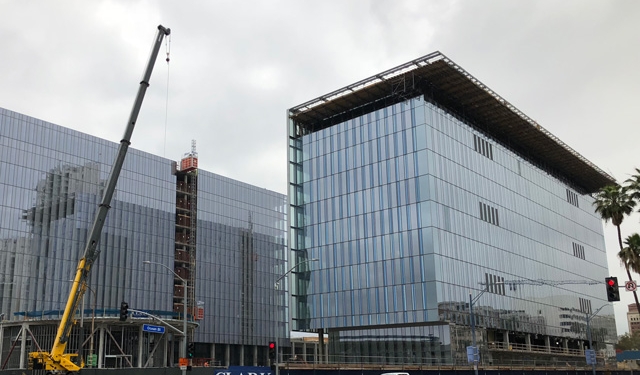
[[[285,272],[285,213],[283,194],[199,171],[199,342],[266,346],[289,337],[284,290],[274,289]]]

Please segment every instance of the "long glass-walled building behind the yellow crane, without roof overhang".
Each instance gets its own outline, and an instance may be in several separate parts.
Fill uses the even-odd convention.
[[[5,328],[6,320],[37,325],[60,318],[117,147],[0,108],[0,313]],[[178,262],[183,216],[177,210],[176,169],[172,160],[129,150],[90,274],[85,316],[93,306],[95,315],[104,318],[99,329],[112,334],[124,329],[117,328],[121,301],[131,309],[182,319],[182,301],[176,304],[175,299],[184,295],[177,289],[182,285],[169,270],[143,265],[161,263],[194,280],[189,288],[196,301],[189,301],[188,318],[198,323],[189,333],[196,357],[221,365],[265,365],[267,343],[288,337],[284,291],[273,287],[288,256],[286,196],[198,170],[195,268],[190,271],[196,274],[187,277]],[[132,332],[138,335],[140,327]],[[3,361],[10,339],[4,336]],[[177,344],[164,353],[173,350],[177,353]],[[131,351],[102,354],[136,356],[137,344]]]

